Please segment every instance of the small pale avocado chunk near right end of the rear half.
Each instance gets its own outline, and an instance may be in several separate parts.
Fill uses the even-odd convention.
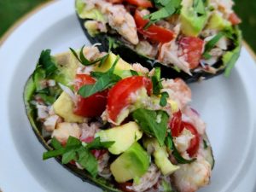
[[[207,29],[216,29],[216,30],[224,30],[231,27],[231,23],[228,20],[224,20],[224,18],[218,13],[214,13],[207,24]]]

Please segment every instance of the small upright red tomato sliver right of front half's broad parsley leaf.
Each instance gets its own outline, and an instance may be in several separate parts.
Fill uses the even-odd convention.
[[[170,128],[172,131],[172,137],[178,137],[179,134],[183,131],[184,126],[182,123],[182,113],[180,110],[172,114]]]

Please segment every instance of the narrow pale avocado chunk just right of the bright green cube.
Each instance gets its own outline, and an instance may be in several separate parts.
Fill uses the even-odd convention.
[[[160,147],[156,139],[146,138],[143,140],[143,145],[145,148],[154,148],[154,163],[160,169],[160,172],[162,172],[163,175],[170,175],[179,169],[179,166],[173,165],[168,159],[166,146]]]

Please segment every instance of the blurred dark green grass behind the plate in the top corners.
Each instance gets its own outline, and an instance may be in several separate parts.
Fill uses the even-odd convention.
[[[16,20],[49,0],[0,0],[0,37]],[[70,0],[72,1],[72,0]],[[243,37],[256,52],[256,0],[235,0],[235,10],[242,19]]]

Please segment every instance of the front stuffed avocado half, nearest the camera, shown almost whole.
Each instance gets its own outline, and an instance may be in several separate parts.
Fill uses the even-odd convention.
[[[160,68],[96,46],[43,50],[24,91],[48,150],[43,159],[106,191],[186,192],[209,183],[212,148],[190,100],[182,79],[161,79]]]

